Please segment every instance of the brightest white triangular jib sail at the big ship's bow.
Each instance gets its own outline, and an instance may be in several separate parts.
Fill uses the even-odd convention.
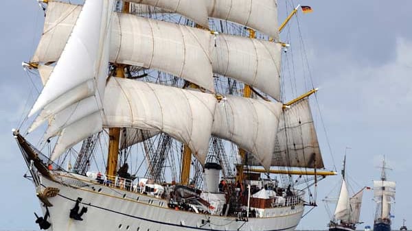
[[[100,36],[106,26],[102,14],[108,1],[88,0],[67,41],[65,50],[34,104],[29,116],[52,103],[71,89],[93,80],[100,70],[102,43]],[[106,9],[107,10],[107,9]],[[98,85],[98,83],[96,83]],[[87,97],[87,96],[80,96]],[[71,104],[75,101],[71,102]],[[68,103],[69,104],[69,103]]]

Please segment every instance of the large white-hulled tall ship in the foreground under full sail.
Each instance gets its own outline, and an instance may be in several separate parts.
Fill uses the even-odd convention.
[[[277,27],[274,0],[38,2],[43,90],[12,132],[42,230],[288,231],[316,206],[336,174],[317,89],[286,101],[281,75],[300,8]]]

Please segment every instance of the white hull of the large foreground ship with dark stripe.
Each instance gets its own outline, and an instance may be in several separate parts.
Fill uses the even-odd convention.
[[[42,179],[42,190],[46,187],[58,188],[56,197],[49,197],[53,204],[49,207],[52,223],[49,230],[82,231],[160,231],[160,230],[295,230],[304,212],[303,204],[271,208],[265,217],[237,221],[236,217],[223,217],[196,214],[168,208],[163,199],[149,197],[121,189],[113,189],[102,184],[88,182],[87,178],[71,178],[79,175],[56,176],[55,181]],[[63,184],[60,184],[63,183]],[[71,185],[71,186],[69,186]],[[79,205],[87,207],[83,221],[69,218],[76,199],[82,198]],[[45,212],[43,207],[43,212]]]

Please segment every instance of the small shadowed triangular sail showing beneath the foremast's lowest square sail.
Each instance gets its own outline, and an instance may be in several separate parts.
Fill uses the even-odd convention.
[[[140,130],[133,127],[124,127],[120,130],[119,149],[125,149],[148,138],[156,136],[159,131]]]

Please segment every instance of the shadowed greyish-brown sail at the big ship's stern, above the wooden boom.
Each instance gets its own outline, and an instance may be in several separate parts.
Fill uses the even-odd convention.
[[[251,160],[249,165],[259,162]],[[284,109],[280,116],[271,166],[324,167],[308,99]]]

